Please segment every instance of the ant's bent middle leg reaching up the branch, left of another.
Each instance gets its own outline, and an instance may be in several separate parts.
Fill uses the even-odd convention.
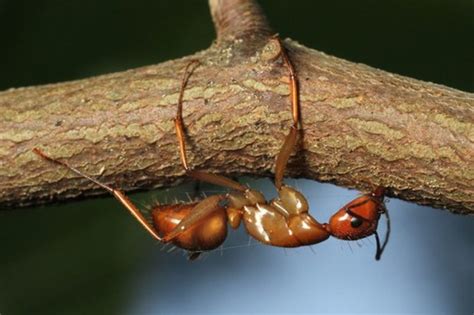
[[[184,95],[184,89],[186,87],[188,79],[192,73],[192,70],[190,70],[190,66],[196,63],[199,63],[199,61],[192,60],[191,62],[188,63],[188,65],[186,66],[184,70],[183,80],[181,82],[181,90],[180,90],[179,99],[178,99],[178,109],[176,112],[176,118],[174,119],[174,125],[176,128],[176,136],[178,138],[178,143],[179,143],[179,154],[181,158],[181,163],[183,164],[183,167],[187,175],[193,177],[196,180],[208,182],[211,184],[224,186],[224,187],[231,188],[233,190],[244,192],[247,190],[247,187],[239,184],[236,181],[231,180],[230,178],[217,175],[217,174],[204,172],[204,171],[195,171],[195,170],[190,169],[188,165],[188,160],[186,157],[186,143],[185,143],[185,134],[184,134],[184,122],[183,122],[183,95]]]

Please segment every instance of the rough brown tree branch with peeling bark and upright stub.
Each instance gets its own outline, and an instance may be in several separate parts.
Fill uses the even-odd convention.
[[[217,41],[179,60],[0,92],[0,207],[104,194],[48,155],[125,191],[184,178],[174,133],[181,75],[190,164],[271,176],[291,125],[287,70],[252,0],[209,0]],[[284,42],[300,82],[303,137],[288,175],[474,213],[474,95]]]

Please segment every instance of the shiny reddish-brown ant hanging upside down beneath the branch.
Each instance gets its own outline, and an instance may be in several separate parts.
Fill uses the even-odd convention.
[[[163,243],[171,242],[187,250],[191,260],[196,259],[204,251],[219,247],[224,242],[227,236],[227,223],[233,229],[237,229],[242,222],[253,238],[263,244],[278,247],[312,245],[328,239],[329,236],[342,240],[358,240],[375,235],[377,242],[375,259],[379,260],[390,234],[390,220],[383,201],[383,187],[354,199],[337,211],[329,223],[321,224],[309,214],[308,202],[303,194],[283,185],[285,168],[300,131],[299,90],[296,72],[287,51],[278,36],[272,37],[272,40],[276,41],[279,47],[274,59],[281,57],[288,70],[293,124],[276,158],[274,181],[278,197],[271,201],[266,201],[261,192],[230,178],[194,170],[188,165],[182,116],[183,95],[193,71],[190,68],[199,64],[197,60],[189,62],[184,69],[174,118],[181,163],[186,174],[193,179],[229,188],[231,192],[212,195],[191,203],[156,205],[152,209],[149,221],[120,190],[83,174],[66,162],[49,157],[38,148],[34,148],[33,152],[109,191],[153,238]],[[380,243],[377,234],[377,225],[382,213],[387,218],[387,232],[383,244]]]

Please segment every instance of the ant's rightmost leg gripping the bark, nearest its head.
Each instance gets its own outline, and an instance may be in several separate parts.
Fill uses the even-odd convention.
[[[288,160],[290,158],[291,152],[295,148],[296,140],[298,136],[298,126],[300,123],[300,104],[299,104],[299,89],[298,89],[298,79],[296,77],[295,68],[290,61],[288,52],[283,47],[283,44],[278,36],[273,37],[273,40],[279,45],[280,53],[279,55],[283,58],[283,62],[288,69],[288,76],[290,80],[290,99],[291,99],[291,113],[293,115],[293,125],[290,127],[290,132],[285,138],[285,142],[278,153],[276,163],[275,163],[275,186],[280,190],[283,184],[283,175],[285,173]]]

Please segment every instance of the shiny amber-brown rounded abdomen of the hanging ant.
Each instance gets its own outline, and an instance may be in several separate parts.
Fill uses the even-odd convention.
[[[161,236],[168,235],[187,217],[198,202],[158,205],[152,210],[153,226]],[[191,252],[207,251],[219,247],[227,237],[227,215],[224,208],[186,229],[170,242]]]

